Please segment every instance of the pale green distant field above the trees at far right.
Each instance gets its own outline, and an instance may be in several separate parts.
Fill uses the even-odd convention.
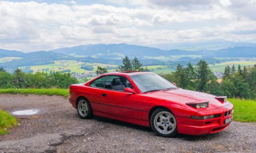
[[[225,63],[219,63],[219,64],[211,64],[209,67],[211,68],[212,72],[224,72],[225,67],[229,65],[229,67],[232,67],[233,65],[237,67],[238,65],[241,65],[243,68],[244,66],[253,66],[256,64],[256,61],[227,61]]]

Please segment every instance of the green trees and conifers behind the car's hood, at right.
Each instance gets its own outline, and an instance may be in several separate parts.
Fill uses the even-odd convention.
[[[234,65],[232,68],[227,65],[222,81],[217,81],[204,60],[200,60],[195,67],[191,63],[184,68],[178,64],[175,72],[162,74],[162,76],[183,89],[197,90],[216,96],[256,98],[256,65],[243,68],[239,65],[237,70]]]

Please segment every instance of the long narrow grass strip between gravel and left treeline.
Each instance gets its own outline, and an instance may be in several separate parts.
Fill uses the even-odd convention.
[[[69,96],[69,89],[0,89],[1,93],[10,93],[10,94],[47,94],[49,96],[52,95],[60,95],[65,98]]]

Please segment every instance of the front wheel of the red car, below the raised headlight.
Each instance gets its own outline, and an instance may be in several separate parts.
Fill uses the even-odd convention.
[[[177,121],[167,108],[158,108],[150,118],[152,130],[162,137],[173,137],[177,134]]]

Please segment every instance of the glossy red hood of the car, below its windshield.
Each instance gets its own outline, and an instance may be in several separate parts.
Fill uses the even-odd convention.
[[[147,93],[145,96],[154,97],[157,99],[165,100],[165,103],[193,103],[193,102],[202,102],[209,101],[208,109],[219,108],[227,105],[227,103],[221,103],[219,100],[216,100],[214,95],[195,92],[191,90],[185,89],[170,89],[170,90],[162,90],[158,92]]]

